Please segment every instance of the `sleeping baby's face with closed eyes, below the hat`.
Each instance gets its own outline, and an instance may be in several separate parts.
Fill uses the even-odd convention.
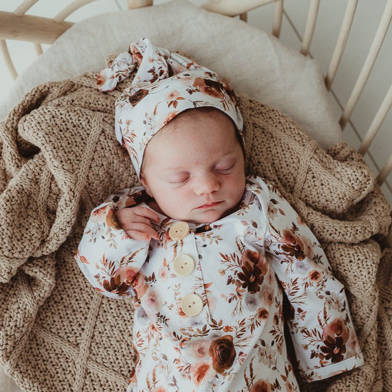
[[[196,119],[184,113],[172,129],[150,140],[141,182],[158,212],[181,221],[211,223],[239,203],[245,174],[235,132],[224,113],[198,114]]]

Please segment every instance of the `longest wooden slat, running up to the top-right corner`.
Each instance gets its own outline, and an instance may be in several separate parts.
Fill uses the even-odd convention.
[[[381,45],[384,41],[385,34],[388,30],[391,18],[392,18],[392,0],[387,0],[372,45],[370,46],[365,62],[363,63],[361,72],[358,76],[354,89],[350,97],[348,98],[347,105],[344,108],[342,116],[340,117],[339,124],[342,130],[346,126],[348,119],[353,113],[353,110],[357,105],[358,98],[361,95],[361,92],[366,84],[367,78],[369,77],[370,71],[372,71],[378,52],[380,51]]]

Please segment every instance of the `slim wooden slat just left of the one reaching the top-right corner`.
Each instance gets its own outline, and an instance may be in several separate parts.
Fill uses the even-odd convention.
[[[346,47],[348,34],[353,24],[355,10],[357,9],[358,0],[348,0],[346,11],[344,13],[342,27],[335,45],[335,50],[328,66],[328,72],[325,76],[325,87],[327,90],[331,89],[332,82],[334,81],[336,71],[338,70],[340,59],[344,48]]]

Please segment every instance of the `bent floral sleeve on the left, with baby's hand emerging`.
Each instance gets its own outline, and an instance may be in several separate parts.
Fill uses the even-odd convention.
[[[95,290],[111,298],[137,294],[139,270],[148,255],[149,241],[129,238],[114,215],[136,203],[135,192],[142,191],[127,188],[110,195],[92,211],[75,255]]]

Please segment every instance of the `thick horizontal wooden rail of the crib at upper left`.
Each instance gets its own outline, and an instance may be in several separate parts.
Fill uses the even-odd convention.
[[[0,39],[52,44],[72,25],[71,22],[56,23],[40,16],[16,16],[13,12],[0,11]]]

